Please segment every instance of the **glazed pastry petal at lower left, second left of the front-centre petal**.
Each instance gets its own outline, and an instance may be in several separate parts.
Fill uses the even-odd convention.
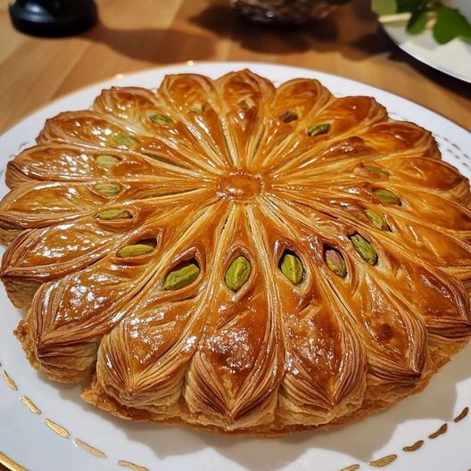
[[[35,368],[57,381],[75,382],[95,368],[101,337],[132,310],[161,250],[158,229],[140,229],[132,240],[154,237],[153,252],[128,257],[115,252],[78,273],[43,285],[18,328]]]

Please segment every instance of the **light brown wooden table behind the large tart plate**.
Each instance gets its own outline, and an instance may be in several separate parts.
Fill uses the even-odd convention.
[[[8,1],[0,0],[0,132],[78,87],[190,60],[277,62],[333,72],[405,96],[471,130],[471,86],[402,53],[379,27],[370,0],[355,0],[318,25],[295,30],[245,23],[227,3],[98,0],[94,29],[43,39],[15,31]]]

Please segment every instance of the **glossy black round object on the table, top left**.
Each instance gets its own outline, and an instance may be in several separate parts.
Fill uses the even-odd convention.
[[[33,36],[73,36],[97,20],[94,0],[16,0],[9,10],[13,26]]]

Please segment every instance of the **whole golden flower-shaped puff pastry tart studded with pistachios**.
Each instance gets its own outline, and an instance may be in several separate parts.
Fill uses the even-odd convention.
[[[6,181],[24,350],[120,417],[341,424],[471,334],[467,178],[367,96],[250,70],[113,87],[47,120]]]

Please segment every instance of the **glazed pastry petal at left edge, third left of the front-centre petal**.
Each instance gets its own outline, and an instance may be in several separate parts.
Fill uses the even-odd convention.
[[[202,191],[179,200],[164,196],[149,202],[112,202],[75,221],[25,231],[2,260],[1,276],[7,293],[16,305],[29,305],[38,284],[91,265],[140,227],[178,225],[188,211],[198,207],[197,195],[211,202],[210,195]],[[30,285],[28,296],[20,285]]]

